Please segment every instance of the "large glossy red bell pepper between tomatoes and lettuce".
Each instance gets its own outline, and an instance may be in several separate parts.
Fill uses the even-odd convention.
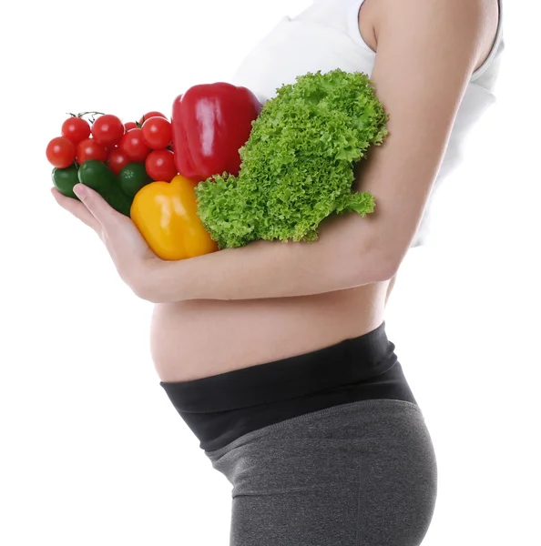
[[[238,176],[239,149],[260,111],[250,89],[223,82],[192,86],[179,95],[171,116],[179,173],[195,181],[224,172]]]

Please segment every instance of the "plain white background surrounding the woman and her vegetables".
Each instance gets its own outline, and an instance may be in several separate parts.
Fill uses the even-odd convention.
[[[306,4],[0,8],[1,544],[228,544],[230,485],[158,385],[151,305],[56,205],[45,148],[66,112],[168,114],[189,86],[227,81],[250,45]],[[541,10],[505,8],[498,102],[469,137],[430,244],[403,262],[388,308],[438,455],[426,546],[541,544]]]

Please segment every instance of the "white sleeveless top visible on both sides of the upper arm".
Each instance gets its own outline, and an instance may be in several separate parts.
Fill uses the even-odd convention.
[[[284,84],[308,72],[346,72],[372,74],[376,54],[363,41],[358,17],[364,0],[314,0],[301,14],[282,17],[246,56],[230,82],[248,87],[261,103],[276,95]],[[504,50],[503,0],[497,35],[490,55],[470,78],[456,115],[444,160],[434,180],[421,224],[411,247],[422,245],[429,227],[430,205],[434,192],[460,159],[464,136],[495,102],[494,86]]]

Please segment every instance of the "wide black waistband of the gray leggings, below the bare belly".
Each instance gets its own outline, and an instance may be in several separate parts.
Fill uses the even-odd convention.
[[[203,379],[161,382],[202,450],[282,420],[363,399],[416,404],[383,324],[358,338]]]

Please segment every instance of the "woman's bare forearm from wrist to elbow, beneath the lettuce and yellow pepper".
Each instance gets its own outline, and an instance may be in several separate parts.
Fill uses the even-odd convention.
[[[254,241],[241,248],[166,262],[164,301],[308,296],[383,280],[369,217],[326,218],[317,241]]]

